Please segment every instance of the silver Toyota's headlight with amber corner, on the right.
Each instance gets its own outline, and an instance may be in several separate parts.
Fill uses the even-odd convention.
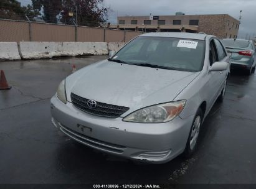
[[[186,100],[175,101],[172,103],[156,104],[139,109],[125,118],[123,121],[128,122],[168,122],[176,118],[186,104]]]

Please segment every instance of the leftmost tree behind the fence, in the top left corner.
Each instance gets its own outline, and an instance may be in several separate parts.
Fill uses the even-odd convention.
[[[26,20],[26,15],[33,20],[39,14],[34,11],[31,5],[21,6],[21,2],[16,0],[1,0],[0,1],[0,18]]]

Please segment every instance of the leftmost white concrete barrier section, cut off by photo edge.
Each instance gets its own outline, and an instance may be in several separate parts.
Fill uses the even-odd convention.
[[[20,60],[16,42],[0,42],[0,60]]]

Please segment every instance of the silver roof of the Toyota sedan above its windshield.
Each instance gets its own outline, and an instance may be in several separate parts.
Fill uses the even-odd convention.
[[[142,34],[140,36],[175,37],[175,38],[184,38],[184,39],[204,40],[206,39],[207,34],[193,34],[193,33],[186,33],[186,32],[154,32],[154,33]]]

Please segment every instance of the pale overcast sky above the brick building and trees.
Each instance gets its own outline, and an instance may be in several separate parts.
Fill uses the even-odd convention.
[[[22,5],[30,0],[19,0]],[[54,0],[53,0],[54,1]],[[185,14],[229,14],[242,20],[239,37],[256,37],[256,1],[255,0],[105,0],[105,6],[111,8],[108,22],[116,24],[117,16],[153,16]]]

